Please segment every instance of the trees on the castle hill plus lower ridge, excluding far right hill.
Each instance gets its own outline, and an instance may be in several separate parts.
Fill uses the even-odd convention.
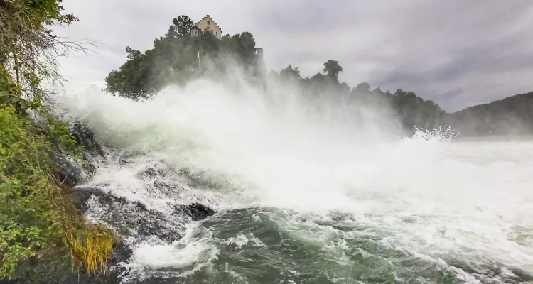
[[[126,48],[128,60],[105,78],[107,92],[146,99],[168,83],[181,84],[193,77],[217,75],[225,72],[227,62],[222,58],[235,58],[249,74],[264,79],[259,71],[255,40],[251,33],[225,35],[220,40],[212,33],[190,36],[193,21],[188,16],[174,18],[173,25],[164,37],[154,40],[154,47],[141,53]],[[198,60],[200,56],[200,62]],[[212,65],[206,65],[209,62]],[[396,93],[370,90],[370,84],[360,83],[354,89],[345,82],[339,82],[343,67],[337,60],[323,63],[323,73],[303,78],[298,67],[289,65],[278,72],[271,72],[270,78],[299,84],[309,99],[321,96],[336,97],[342,102],[348,99],[361,104],[390,108],[406,129],[413,126],[435,127],[441,123],[445,112],[437,104],[418,97],[414,92],[398,90]]]

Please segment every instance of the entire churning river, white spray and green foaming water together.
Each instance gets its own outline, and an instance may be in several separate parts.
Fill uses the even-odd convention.
[[[63,98],[109,147],[82,186],[122,197],[88,211],[134,249],[122,283],[533,281],[533,141],[404,137],[386,110],[281,90]]]

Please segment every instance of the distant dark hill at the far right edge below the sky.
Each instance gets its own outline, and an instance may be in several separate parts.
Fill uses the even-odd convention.
[[[532,134],[533,92],[446,113],[443,122],[461,136]]]

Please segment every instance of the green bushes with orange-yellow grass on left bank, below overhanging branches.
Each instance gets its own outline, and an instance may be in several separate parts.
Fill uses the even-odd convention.
[[[16,93],[16,85],[5,77],[1,94]],[[55,155],[65,151],[76,157],[82,147],[42,104],[27,103],[42,116],[37,123],[5,96],[0,96],[0,278],[12,278],[23,261],[56,247],[68,249],[72,264],[87,272],[105,269],[114,235],[85,223],[56,175],[60,165]]]

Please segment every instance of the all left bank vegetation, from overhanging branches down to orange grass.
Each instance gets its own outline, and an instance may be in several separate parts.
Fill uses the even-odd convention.
[[[0,278],[25,278],[45,260],[68,259],[77,273],[107,269],[116,238],[87,222],[68,197],[60,155],[83,151],[52,115],[56,59],[81,45],[51,27],[78,21],[61,0],[0,1]],[[51,271],[48,271],[51,273]],[[46,273],[45,273],[46,274]],[[43,275],[45,278],[47,275]]]

